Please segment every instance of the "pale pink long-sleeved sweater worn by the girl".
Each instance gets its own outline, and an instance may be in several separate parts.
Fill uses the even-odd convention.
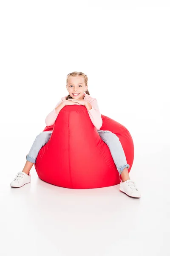
[[[84,100],[90,102],[90,104],[92,106],[92,108],[90,110],[88,110],[88,114],[90,116],[91,122],[94,124],[96,129],[99,130],[100,127],[102,127],[102,116],[101,116],[101,113],[99,111],[97,100],[95,98],[92,98],[90,95],[88,95],[86,93],[84,93],[84,95],[85,95]],[[55,108],[57,108],[57,106],[63,100],[65,100],[66,97],[67,96],[62,97],[61,100],[55,106]],[[46,123],[47,126],[53,125],[55,120],[57,119],[58,114],[56,113],[55,108],[45,118],[45,123]]]

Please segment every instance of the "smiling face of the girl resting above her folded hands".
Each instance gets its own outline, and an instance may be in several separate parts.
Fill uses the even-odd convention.
[[[73,99],[83,99],[83,93],[87,90],[85,86],[84,78],[81,76],[71,76],[68,78],[68,84],[66,85],[68,93]],[[78,93],[78,95],[74,95]]]

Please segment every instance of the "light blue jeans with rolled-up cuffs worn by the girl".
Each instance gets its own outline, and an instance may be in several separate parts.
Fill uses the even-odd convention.
[[[97,132],[102,140],[108,145],[120,177],[123,170],[126,167],[129,169],[130,165],[127,164],[126,156],[122,148],[122,144],[119,141],[119,137],[117,137],[116,134],[113,134],[111,131],[98,130]],[[29,153],[26,155],[27,161],[35,163],[40,149],[42,146],[48,143],[51,133],[52,131],[42,131],[39,135],[37,135]]]

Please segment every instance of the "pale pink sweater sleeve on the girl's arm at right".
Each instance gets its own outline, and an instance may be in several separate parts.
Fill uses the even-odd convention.
[[[100,127],[102,127],[103,121],[102,121],[101,113],[99,111],[97,100],[94,99],[93,101],[90,102],[90,104],[92,108],[88,110],[88,114],[90,116],[91,122],[94,124],[96,129],[99,130]]]

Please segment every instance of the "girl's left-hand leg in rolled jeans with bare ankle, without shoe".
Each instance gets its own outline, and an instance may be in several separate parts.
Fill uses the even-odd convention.
[[[52,131],[42,131],[39,135],[37,135],[29,153],[26,155],[27,161],[22,172],[25,172],[27,175],[29,174],[32,166],[36,162],[36,158],[40,149],[48,142],[51,137],[51,133]]]

